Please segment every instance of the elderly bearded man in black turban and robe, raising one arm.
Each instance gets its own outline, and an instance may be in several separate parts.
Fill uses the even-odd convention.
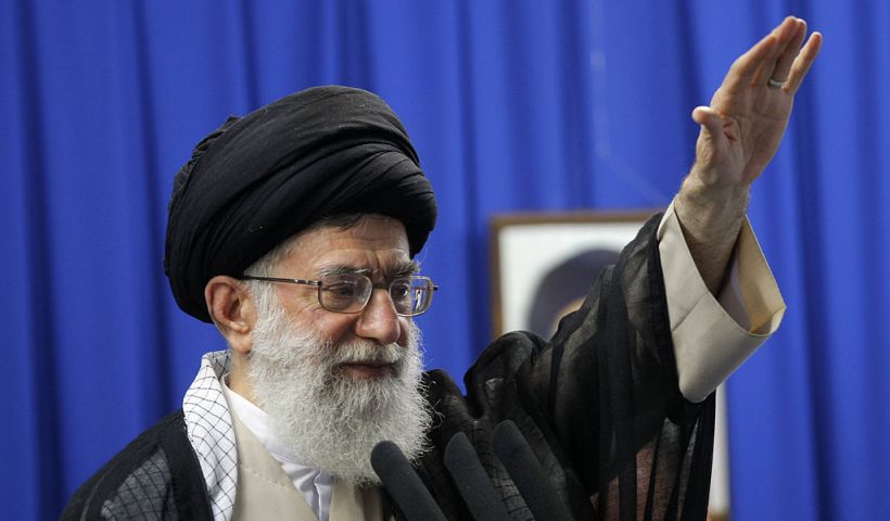
[[[578,519],[702,519],[716,385],[784,304],[745,221],[821,46],[789,17],[697,107],[697,158],[550,341],[508,334],[468,372],[422,371],[412,317],[435,285],[412,257],[435,200],[376,96],[308,89],[205,138],[176,176],[165,267],[229,348],[182,410],[143,433],[64,518],[389,519],[369,463],[392,440],[447,517],[469,511],[443,449],[465,433],[496,493],[527,506],[491,449],[516,422]]]

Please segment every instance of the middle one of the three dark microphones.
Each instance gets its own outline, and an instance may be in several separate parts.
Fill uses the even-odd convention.
[[[500,495],[488,480],[488,474],[482,468],[470,440],[462,432],[458,432],[448,441],[445,447],[445,467],[454,478],[473,519],[510,521],[510,514],[507,513]]]

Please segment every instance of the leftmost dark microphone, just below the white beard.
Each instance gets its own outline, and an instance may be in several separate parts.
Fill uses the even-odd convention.
[[[447,521],[395,443],[385,440],[374,445],[371,467],[408,520]]]

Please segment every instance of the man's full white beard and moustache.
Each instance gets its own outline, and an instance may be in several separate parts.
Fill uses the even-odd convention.
[[[424,452],[431,415],[421,384],[419,329],[408,346],[371,341],[332,345],[290,322],[281,308],[267,310],[253,332],[247,374],[258,406],[300,462],[346,483],[380,483],[371,449],[395,442],[409,460]],[[356,379],[342,364],[392,364],[394,374]]]

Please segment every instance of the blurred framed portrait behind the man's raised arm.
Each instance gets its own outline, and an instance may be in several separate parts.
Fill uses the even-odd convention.
[[[547,339],[581,306],[599,272],[658,209],[619,213],[496,215],[491,224],[492,317],[495,338],[532,331]],[[729,512],[726,398],[717,390],[709,517]]]

